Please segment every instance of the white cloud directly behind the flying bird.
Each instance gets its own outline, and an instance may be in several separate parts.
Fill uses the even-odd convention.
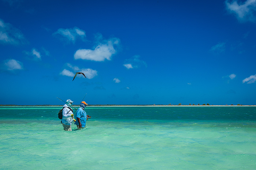
[[[67,63],[67,67],[71,68],[73,70],[73,72],[71,72],[67,69],[64,69],[60,73],[60,75],[74,77],[75,72],[83,72],[87,79],[92,79],[92,78],[94,78],[95,76],[98,75],[98,72],[96,70],[91,69],[91,68],[82,68],[82,69],[80,69],[79,67],[73,66],[69,63]],[[84,77],[84,76],[81,75],[81,74],[78,74],[76,77]]]

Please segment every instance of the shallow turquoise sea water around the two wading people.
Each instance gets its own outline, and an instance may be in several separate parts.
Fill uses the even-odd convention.
[[[256,107],[86,107],[63,130],[61,107],[0,107],[4,170],[255,170]]]

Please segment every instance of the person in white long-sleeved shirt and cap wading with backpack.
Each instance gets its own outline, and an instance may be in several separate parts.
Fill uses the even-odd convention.
[[[67,99],[63,106],[61,123],[65,131],[72,131],[71,124],[74,120],[73,110],[71,109],[72,103],[70,99]]]

